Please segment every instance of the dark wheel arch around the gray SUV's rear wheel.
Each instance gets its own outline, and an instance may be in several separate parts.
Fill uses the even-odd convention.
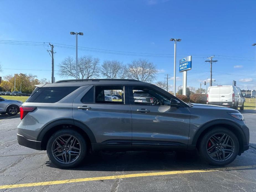
[[[73,119],[60,119],[52,121],[48,124],[46,124],[40,131],[40,133],[37,136],[37,141],[41,141],[41,149],[46,150],[46,145],[48,142],[48,139],[50,136],[63,128],[71,128],[79,133],[82,134],[82,136],[88,141],[88,144],[95,143],[96,139],[92,131],[89,129],[88,126],[86,126],[84,123],[81,123],[79,121],[73,120]]]

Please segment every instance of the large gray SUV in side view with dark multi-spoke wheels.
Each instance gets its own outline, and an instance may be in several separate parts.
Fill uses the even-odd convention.
[[[122,99],[105,99],[120,93]],[[138,92],[150,95],[143,102]],[[249,149],[249,129],[237,110],[184,103],[165,90],[129,79],[63,80],[36,85],[20,107],[20,145],[46,150],[70,168],[89,151],[194,151],[223,166]]]

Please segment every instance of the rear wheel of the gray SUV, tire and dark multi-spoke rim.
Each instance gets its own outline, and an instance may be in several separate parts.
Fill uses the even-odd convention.
[[[66,143],[63,142],[64,140],[60,140],[58,138],[64,139]],[[67,142],[69,138],[70,141]],[[59,145],[57,143],[61,145],[61,148],[59,150],[57,150],[59,148]],[[70,129],[61,129],[53,133],[53,135],[50,137],[47,142],[46,151],[51,162],[57,167],[72,168],[81,164],[82,160],[86,156],[87,145],[84,137],[82,137],[82,135],[77,131]],[[53,154],[59,156],[54,157]]]

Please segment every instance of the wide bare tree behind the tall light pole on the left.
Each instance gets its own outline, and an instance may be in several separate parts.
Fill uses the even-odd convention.
[[[78,79],[90,79],[99,76],[99,58],[92,56],[82,56],[78,59]],[[59,65],[59,75],[61,77],[76,77],[76,63],[71,57],[65,58]]]

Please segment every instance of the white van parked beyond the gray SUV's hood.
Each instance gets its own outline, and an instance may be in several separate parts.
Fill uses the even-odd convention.
[[[245,99],[242,96],[241,89],[232,85],[219,85],[209,87],[207,90],[207,104],[232,107],[234,109],[244,110]]]

